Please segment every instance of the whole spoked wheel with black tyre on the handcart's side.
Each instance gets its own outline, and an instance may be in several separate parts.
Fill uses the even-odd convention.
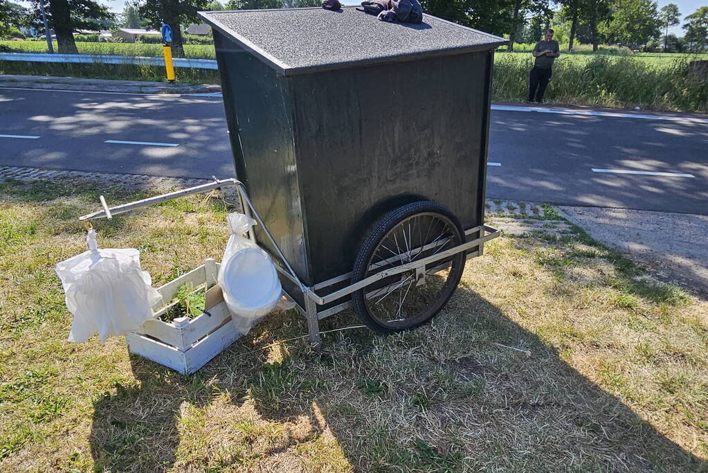
[[[352,284],[463,244],[464,232],[445,205],[422,201],[386,215],[367,236],[354,263]],[[389,275],[353,292],[363,323],[381,334],[430,321],[455,292],[466,261],[464,251],[426,266]]]

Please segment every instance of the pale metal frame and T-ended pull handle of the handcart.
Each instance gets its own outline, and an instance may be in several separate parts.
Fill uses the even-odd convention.
[[[236,187],[236,190],[238,190],[239,193],[239,200],[241,201],[241,209],[249,217],[255,218],[256,222],[261,225],[263,232],[265,232],[265,235],[268,236],[268,240],[270,240],[270,243],[273,244],[273,248],[278,253],[278,258],[273,258],[273,260],[276,262],[275,268],[278,270],[278,273],[280,273],[284,278],[287,278],[292,283],[294,283],[295,287],[297,287],[297,289],[302,293],[304,299],[304,307],[302,307],[296,302],[295,297],[292,297],[292,295],[287,294],[287,292],[283,290],[283,292],[285,292],[285,294],[287,295],[288,299],[295,303],[295,307],[297,308],[298,312],[300,312],[300,314],[302,314],[303,317],[307,319],[309,341],[314,347],[319,347],[321,345],[319,320],[324,319],[326,317],[330,317],[334,314],[338,314],[339,312],[348,309],[349,307],[351,307],[351,302],[349,300],[346,300],[345,302],[341,302],[340,304],[337,304],[334,307],[330,307],[329,309],[326,309],[322,312],[317,312],[317,306],[331,304],[333,302],[341,300],[344,297],[351,295],[353,292],[362,289],[362,287],[366,287],[368,285],[371,285],[372,283],[376,283],[379,280],[388,278],[396,274],[404,273],[409,270],[425,271],[426,267],[434,268],[433,263],[441,261],[442,259],[447,258],[448,256],[455,255],[457,253],[467,253],[467,259],[474,258],[476,256],[481,256],[484,249],[484,243],[499,236],[498,229],[495,229],[485,224],[471,229],[465,229],[465,236],[470,236],[474,234],[477,234],[479,236],[475,239],[467,241],[464,244],[454,246],[445,251],[440,251],[440,253],[435,253],[432,256],[428,256],[417,261],[411,261],[410,263],[406,263],[395,268],[382,270],[379,273],[376,273],[374,275],[369,276],[368,278],[358,281],[357,283],[335,290],[334,292],[331,292],[328,295],[320,296],[317,294],[316,291],[343,283],[351,277],[351,273],[339,275],[336,278],[332,278],[322,283],[315,284],[312,287],[307,287],[306,285],[304,285],[302,281],[298,278],[297,273],[295,273],[295,270],[293,270],[292,266],[290,266],[290,263],[287,261],[287,258],[285,258],[285,255],[280,250],[280,246],[278,246],[278,243],[275,242],[273,235],[270,234],[268,227],[265,226],[263,219],[261,219],[261,216],[258,215],[256,208],[253,207],[253,203],[251,203],[248,193],[246,193],[246,188],[244,184],[236,178],[221,180],[214,178],[214,182],[212,183],[205,183],[200,186],[194,186],[183,190],[176,190],[171,193],[156,195],[151,198],[137,200],[136,202],[118,205],[112,208],[108,207],[108,204],[105,202],[103,195],[101,195],[101,205],[103,207],[103,210],[88,215],[83,215],[79,217],[79,220],[91,220],[103,217],[110,219],[113,217],[113,215],[130,212],[131,210],[137,210],[142,207],[148,207],[149,205],[166,202],[167,200],[173,200],[176,198],[185,197],[186,195],[204,193],[210,190],[226,187]],[[251,241],[253,241],[254,243],[256,242],[256,236],[253,233],[253,229],[249,230],[248,236]],[[479,251],[468,252],[476,246],[479,246]],[[404,259],[403,256],[404,255],[399,254],[393,257],[393,259],[397,258],[398,261],[402,261]]]

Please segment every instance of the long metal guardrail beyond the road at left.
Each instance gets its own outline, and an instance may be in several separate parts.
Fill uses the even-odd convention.
[[[0,61],[25,62],[76,62],[98,64],[137,64],[146,66],[164,66],[162,57],[136,56],[105,56],[105,55],[50,55],[38,52],[0,52]],[[172,59],[174,67],[191,67],[193,69],[217,69],[213,59],[187,59],[176,57]]]

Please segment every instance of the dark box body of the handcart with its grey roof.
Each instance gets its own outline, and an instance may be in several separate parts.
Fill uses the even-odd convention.
[[[200,16],[214,30],[236,176],[305,284],[349,273],[372,225],[405,203],[483,223],[503,38],[353,7]]]

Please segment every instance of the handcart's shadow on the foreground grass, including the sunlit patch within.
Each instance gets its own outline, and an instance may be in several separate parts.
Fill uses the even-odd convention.
[[[274,314],[190,376],[132,357],[137,384],[94,405],[96,468],[708,469],[464,285],[406,334],[275,343],[304,333]]]

